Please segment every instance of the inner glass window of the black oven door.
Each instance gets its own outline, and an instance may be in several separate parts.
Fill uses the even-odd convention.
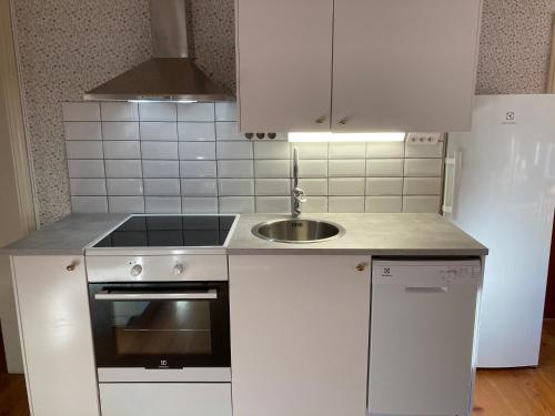
[[[118,355],[212,354],[209,301],[113,302]]]

